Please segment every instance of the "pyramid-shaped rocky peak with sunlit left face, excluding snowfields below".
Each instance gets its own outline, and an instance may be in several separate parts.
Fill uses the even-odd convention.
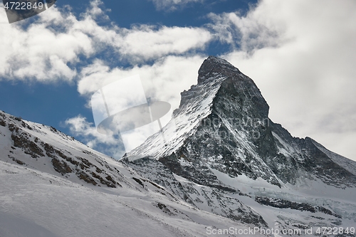
[[[206,58],[197,85],[181,95],[179,108],[163,129],[169,134],[167,143],[161,135],[152,135],[127,154],[127,161],[157,159],[198,184],[224,186],[214,169],[280,187],[305,178],[356,186],[355,170],[345,165],[356,167],[355,162],[308,137],[292,137],[272,122],[256,84],[226,60]]]

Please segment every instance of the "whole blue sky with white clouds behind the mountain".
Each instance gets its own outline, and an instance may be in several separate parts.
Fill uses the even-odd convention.
[[[139,74],[175,108],[215,55],[256,82],[274,122],[356,159],[355,10],[352,0],[58,0],[12,24],[2,11],[0,110],[120,157],[117,137],[95,134],[91,95]]]

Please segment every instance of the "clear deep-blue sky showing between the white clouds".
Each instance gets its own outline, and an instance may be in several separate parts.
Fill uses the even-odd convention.
[[[253,4],[251,1],[250,4]],[[133,24],[150,24],[153,26],[201,26],[209,23],[206,15],[213,9],[214,12],[241,11],[248,10],[248,1],[206,1],[204,4],[195,3],[190,7],[179,6],[176,11],[157,10],[152,1],[103,1],[100,4],[109,21],[101,21],[102,25],[111,22],[122,28],[130,28]],[[66,1],[56,2],[56,7],[63,9],[70,6],[70,12],[80,17],[89,7],[88,1]],[[66,11],[66,10],[63,10]],[[26,21],[36,21],[39,16]],[[229,50],[229,46],[224,46],[219,42],[211,42],[205,51],[206,55],[216,55]],[[105,57],[105,53],[100,52],[97,57]],[[101,55],[100,55],[101,54]],[[83,63],[85,64],[85,58]],[[132,66],[125,62],[114,61],[112,66]],[[12,115],[21,116],[26,120],[40,122],[46,125],[59,127],[63,132],[69,133],[68,127],[63,127],[68,117],[74,117],[78,113],[93,122],[91,110],[86,108],[85,98],[80,96],[75,83],[33,83],[28,80],[22,81],[1,81],[0,98],[6,101],[1,105],[1,110]],[[65,96],[63,96],[65,95]],[[11,100],[9,100],[11,98]],[[45,113],[46,115],[44,115]]]

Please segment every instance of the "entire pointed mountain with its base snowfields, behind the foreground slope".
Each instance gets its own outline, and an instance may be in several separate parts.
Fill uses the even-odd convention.
[[[268,110],[251,78],[209,56],[163,128],[167,142],[152,135],[122,162],[231,220],[280,229],[355,228],[356,162],[310,137],[292,137]]]

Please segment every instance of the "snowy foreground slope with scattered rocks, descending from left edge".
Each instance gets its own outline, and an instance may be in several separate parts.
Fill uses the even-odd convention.
[[[253,228],[197,209],[53,127],[5,112],[0,180],[1,237],[206,236],[210,228]]]

